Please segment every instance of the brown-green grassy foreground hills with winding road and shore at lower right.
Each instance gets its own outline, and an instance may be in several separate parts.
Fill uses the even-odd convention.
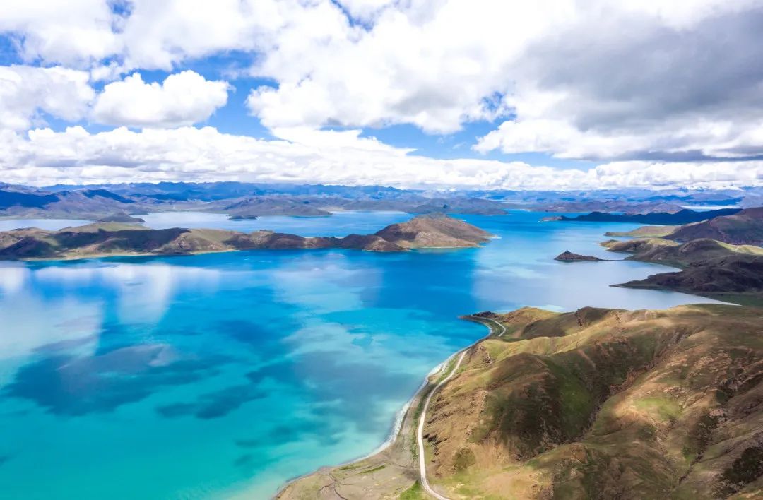
[[[428,378],[388,447],[277,498],[763,494],[763,309],[527,307],[466,319],[491,334]]]

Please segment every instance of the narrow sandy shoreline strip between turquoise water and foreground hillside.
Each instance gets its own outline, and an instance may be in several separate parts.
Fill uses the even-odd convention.
[[[396,472],[405,476],[406,479],[404,481],[395,478],[398,479],[398,482],[405,483],[404,488],[401,489],[400,492],[403,492],[416,484],[420,484],[421,478],[419,473],[418,453],[417,450],[414,449],[417,448],[418,444],[416,439],[417,422],[424,399],[433,391],[433,389],[436,389],[443,371],[446,371],[446,368],[456,356],[462,353],[465,354],[469,349],[485,340],[485,338],[489,338],[494,334],[499,336],[502,335],[502,333],[498,333],[498,330],[495,329],[490,322],[486,322],[483,318],[478,316],[465,315],[459,316],[459,319],[484,325],[489,330],[488,335],[478,338],[476,341],[472,342],[472,344],[454,352],[447,357],[446,360],[437,364],[429,373],[427,373],[423,383],[419,389],[417,389],[416,393],[414,393],[414,396],[412,396],[398,411],[398,415],[401,416],[395,418],[389,437],[380,444],[379,447],[364,457],[348,460],[335,465],[320,466],[317,470],[314,470],[311,473],[306,473],[297,476],[294,479],[289,479],[280,489],[278,489],[278,492],[275,492],[275,495],[272,495],[271,498],[274,500],[305,498],[304,495],[307,492],[314,494],[311,498],[344,498],[336,492],[336,485],[339,481],[334,477],[334,473],[343,471],[362,474],[363,477],[360,478],[361,481],[357,486],[364,490],[366,487],[362,484],[363,479],[367,481],[368,479],[373,478],[372,482],[374,483],[374,486],[378,486],[379,483],[384,484],[385,478],[377,480],[378,478],[375,477],[375,473],[383,473],[387,469],[397,469]],[[500,325],[500,323],[497,324]],[[432,377],[434,376],[438,377],[436,377],[435,380],[432,380]],[[382,476],[382,474],[379,475]],[[386,481],[386,483],[388,482],[390,481]],[[324,490],[327,489],[333,489],[336,497],[324,497],[319,495],[320,492],[324,492]]]

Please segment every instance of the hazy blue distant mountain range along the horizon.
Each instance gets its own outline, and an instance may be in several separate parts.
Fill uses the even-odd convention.
[[[496,215],[511,208],[524,208],[557,213],[594,211],[588,220],[594,220],[593,217],[623,220],[626,215],[678,214],[675,223],[687,223],[688,220],[681,219],[684,205],[755,207],[761,204],[763,188],[758,187],[715,191],[427,191],[384,186],[246,182],[54,185],[42,188],[0,183],[0,216],[86,220],[100,220],[113,213],[175,210],[201,210],[251,218],[262,215],[329,216],[336,210]],[[660,223],[656,216],[651,217],[649,223]],[[634,221],[647,222],[638,218]]]

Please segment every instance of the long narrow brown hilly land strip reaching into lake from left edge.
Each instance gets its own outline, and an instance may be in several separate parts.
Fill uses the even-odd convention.
[[[95,223],[59,231],[14,229],[0,232],[0,259],[55,260],[124,255],[191,255],[255,249],[351,248],[407,252],[415,248],[469,248],[493,235],[444,214],[415,216],[372,235],[297,236],[260,230],[149,229],[123,223]]]

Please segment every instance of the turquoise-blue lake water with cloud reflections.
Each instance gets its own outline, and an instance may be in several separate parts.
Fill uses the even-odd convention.
[[[461,314],[707,302],[608,286],[653,264],[553,261],[613,257],[602,233],[634,226],[543,215],[465,216],[500,236],[477,249],[0,263],[2,497],[267,498],[385,441],[426,373],[485,335]],[[347,224],[390,217],[407,218]]]

